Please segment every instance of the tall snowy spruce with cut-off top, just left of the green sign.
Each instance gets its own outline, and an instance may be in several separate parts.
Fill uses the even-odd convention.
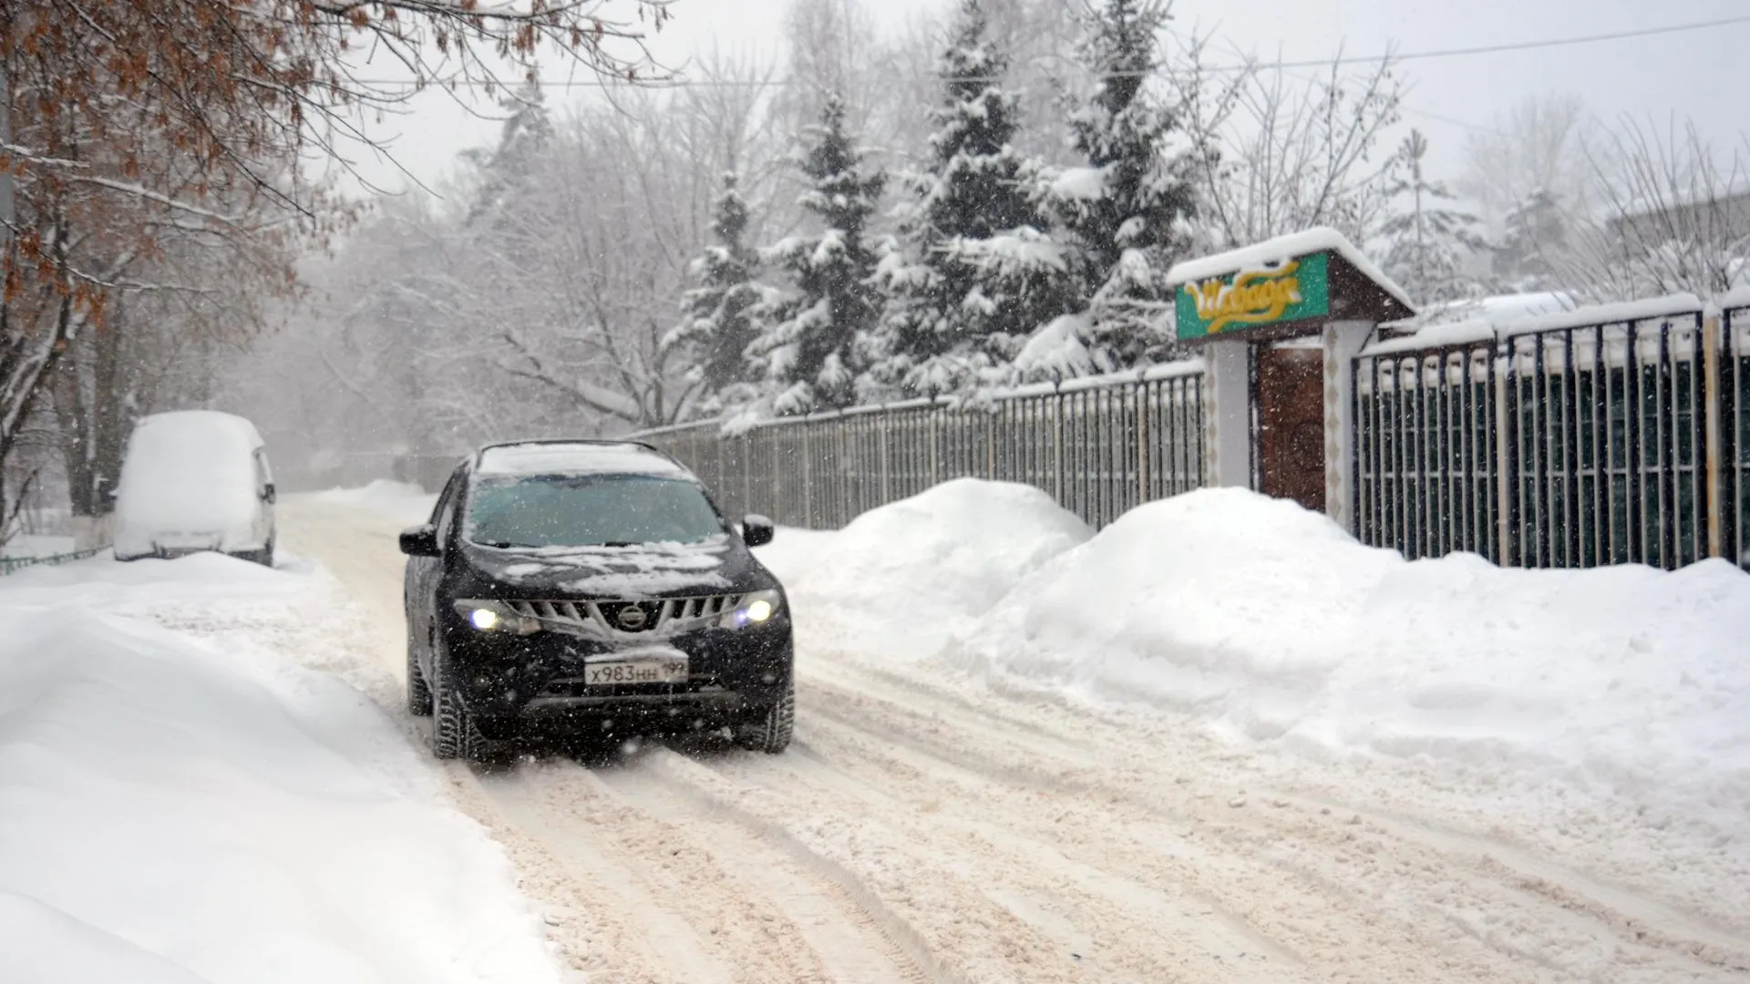
[[[1160,67],[1162,0],[1104,0],[1083,18],[1082,60],[1097,77],[1069,117],[1087,159],[1046,187],[1088,303],[1083,343],[1102,369],[1134,366],[1172,343],[1167,266],[1188,240],[1195,193],[1176,112],[1150,89]]]

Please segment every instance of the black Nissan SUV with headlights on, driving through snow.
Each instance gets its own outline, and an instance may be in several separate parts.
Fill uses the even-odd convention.
[[[488,445],[408,555],[408,707],[438,758],[513,739],[733,728],[780,753],[794,718],[784,587],[679,462],[635,441]]]

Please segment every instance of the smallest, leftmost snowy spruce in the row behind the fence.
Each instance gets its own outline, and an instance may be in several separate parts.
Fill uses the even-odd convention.
[[[696,352],[696,373],[705,390],[698,410],[707,415],[752,399],[747,347],[760,333],[754,315],[766,296],[756,280],[760,254],[742,242],[747,201],[737,189],[733,172],[723,175],[710,233],[718,243],[705,247],[690,264],[698,287],[681,299],[681,324],[668,334],[670,345]]]

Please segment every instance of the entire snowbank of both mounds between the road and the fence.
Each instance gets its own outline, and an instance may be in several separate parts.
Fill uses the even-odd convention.
[[[1405,562],[1300,506],[1211,488],[1099,536],[961,480],[765,552],[812,646],[938,658],[1237,739],[1561,777],[1750,823],[1750,576]],[[898,615],[898,618],[896,618]],[[891,629],[880,630],[878,625]]]

